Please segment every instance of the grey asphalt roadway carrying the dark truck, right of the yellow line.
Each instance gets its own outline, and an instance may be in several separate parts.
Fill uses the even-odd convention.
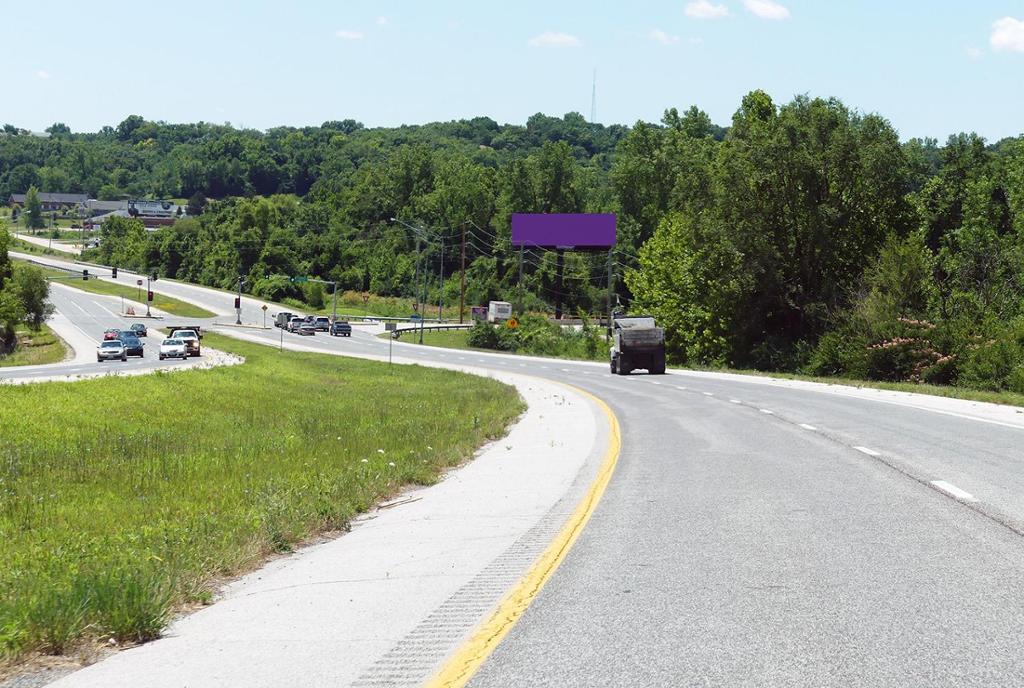
[[[354,330],[284,337],[387,354]],[[622,424],[593,519],[471,685],[1024,685],[1020,425],[685,373],[395,354],[567,382]]]

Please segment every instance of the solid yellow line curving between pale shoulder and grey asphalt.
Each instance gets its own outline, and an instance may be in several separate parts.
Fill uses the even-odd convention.
[[[571,387],[571,385],[565,386]],[[519,620],[519,617],[526,611],[565,559],[569,550],[572,549],[572,545],[583,532],[587,521],[590,520],[611,480],[622,448],[618,420],[608,404],[601,399],[577,387],[571,387],[571,389],[590,397],[604,412],[608,420],[608,449],[601,462],[597,476],[558,535],[538,557],[529,570],[512,587],[490,616],[449,656],[437,674],[424,684],[427,688],[462,688],[473,678],[473,675],[479,671],[490,653],[502,642],[502,639],[512,630],[512,627]]]

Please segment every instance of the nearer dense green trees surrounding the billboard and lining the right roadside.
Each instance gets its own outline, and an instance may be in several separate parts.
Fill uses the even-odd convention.
[[[469,303],[603,312],[607,256],[567,254],[559,290],[554,255],[513,250],[509,218],[615,212],[615,298],[668,327],[677,362],[1024,389],[1022,139],[901,142],[839,100],[760,91],[727,129],[696,107],[621,131],[566,116],[528,135],[538,122],[514,146],[438,133],[468,123],[353,130],[388,142],[326,156],[305,195],[211,201],[159,232],[109,224],[99,257],[313,302],[289,275],[411,303],[425,282],[452,304],[440,275],[465,230]]]

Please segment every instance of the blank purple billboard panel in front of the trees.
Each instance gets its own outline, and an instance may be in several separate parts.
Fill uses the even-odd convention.
[[[615,245],[613,213],[512,215],[512,246],[596,251]]]

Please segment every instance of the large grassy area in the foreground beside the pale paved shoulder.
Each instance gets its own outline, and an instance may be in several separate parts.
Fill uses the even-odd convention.
[[[0,663],[153,638],[224,576],[434,481],[523,408],[449,371],[204,343],[246,363],[0,387]]]

